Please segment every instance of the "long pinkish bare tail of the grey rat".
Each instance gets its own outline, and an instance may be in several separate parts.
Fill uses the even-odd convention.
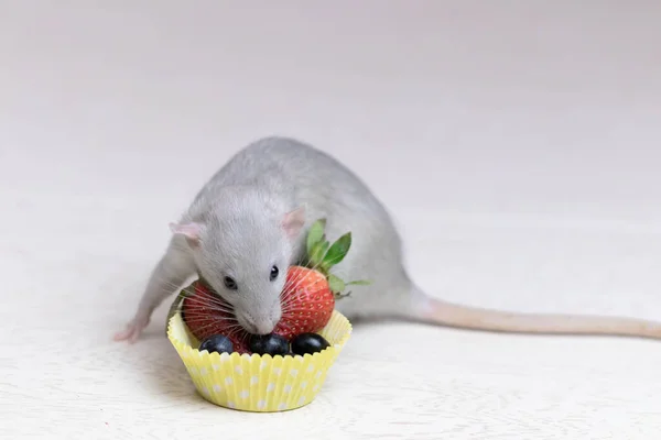
[[[416,290],[409,318],[460,329],[509,333],[593,334],[661,339],[661,322],[641,319],[510,312],[462,306],[435,299]]]

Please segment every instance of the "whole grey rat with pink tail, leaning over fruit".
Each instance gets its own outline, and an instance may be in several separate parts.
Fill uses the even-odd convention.
[[[294,139],[271,136],[239,151],[197,194],[156,264],[133,319],[116,340],[136,342],[153,310],[195,276],[229,302],[250,333],[270,333],[282,310],[286,268],[305,258],[310,226],[326,219],[334,241],[353,245],[335,271],[353,286],[336,302],[349,320],[394,318],[465,329],[661,337],[661,323],[629,318],[508,312],[451,304],[409,277],[401,240],[381,202],[353,172]]]

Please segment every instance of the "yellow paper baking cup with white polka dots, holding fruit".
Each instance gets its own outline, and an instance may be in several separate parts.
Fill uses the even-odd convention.
[[[195,388],[225,408],[275,413],[310,404],[351,334],[350,322],[337,310],[318,332],[330,344],[304,356],[208,353],[188,331],[181,314],[170,319],[167,338],[184,362]]]

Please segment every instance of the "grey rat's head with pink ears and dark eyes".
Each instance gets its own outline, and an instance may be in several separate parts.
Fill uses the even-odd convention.
[[[305,213],[299,208],[269,218],[263,208],[242,208],[172,230],[185,237],[199,275],[234,307],[238,323],[268,334],[282,316],[280,294]]]

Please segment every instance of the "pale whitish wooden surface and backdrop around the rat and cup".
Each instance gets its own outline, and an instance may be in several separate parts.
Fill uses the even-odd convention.
[[[164,308],[110,338],[272,133],[360,173],[436,295],[661,319],[659,2],[102,3],[0,3],[1,438],[658,437],[661,342],[357,327],[313,405],[251,415],[194,394]]]

